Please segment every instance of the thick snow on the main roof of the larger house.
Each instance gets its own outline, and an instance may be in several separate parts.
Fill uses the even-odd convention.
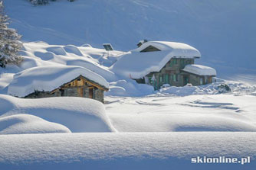
[[[139,53],[149,46],[156,47],[161,51]],[[132,79],[140,79],[149,72],[159,72],[173,56],[194,58],[200,57],[201,54],[199,50],[185,43],[150,41],[123,55],[113,65],[112,71]]]

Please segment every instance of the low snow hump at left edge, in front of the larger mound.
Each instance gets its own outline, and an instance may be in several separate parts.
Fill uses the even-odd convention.
[[[71,130],[61,124],[51,123],[28,114],[0,118],[0,134],[25,133],[71,133]]]

